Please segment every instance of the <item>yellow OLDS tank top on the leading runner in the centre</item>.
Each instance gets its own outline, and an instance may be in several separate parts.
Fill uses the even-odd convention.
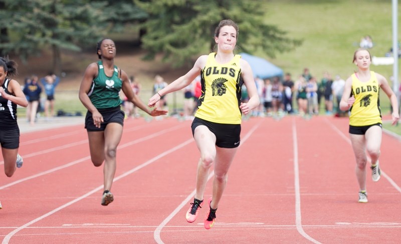
[[[241,124],[241,56],[235,55],[226,64],[217,63],[215,56],[209,54],[200,72],[202,95],[195,116],[214,123]]]

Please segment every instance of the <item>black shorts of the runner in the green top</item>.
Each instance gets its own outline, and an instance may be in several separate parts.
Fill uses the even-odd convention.
[[[102,132],[106,129],[106,126],[109,123],[118,123],[121,126],[124,126],[124,111],[121,110],[120,106],[107,109],[99,109],[98,111],[103,116],[103,123],[100,124],[100,128],[97,128],[95,124],[93,124],[92,113],[90,111],[86,113],[85,129],[88,132]]]

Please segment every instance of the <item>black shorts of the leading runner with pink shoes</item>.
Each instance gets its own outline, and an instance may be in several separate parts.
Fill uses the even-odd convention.
[[[195,128],[198,126],[206,126],[216,136],[216,146],[219,148],[236,148],[240,146],[240,124],[219,124],[208,120],[195,117],[192,121],[192,136]]]

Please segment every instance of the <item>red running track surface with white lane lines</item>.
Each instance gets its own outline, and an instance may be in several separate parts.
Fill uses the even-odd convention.
[[[205,207],[185,220],[199,157],[190,121],[125,121],[107,207],[82,125],[22,134],[24,166],[0,177],[2,243],[398,243],[401,142],[383,134],[382,178],[367,176],[361,204],[347,130],[326,116],[243,121],[210,230]]]

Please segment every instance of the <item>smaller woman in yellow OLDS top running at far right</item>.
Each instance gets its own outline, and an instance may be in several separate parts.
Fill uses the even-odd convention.
[[[366,153],[371,159],[372,180],[380,179],[378,158],[381,144],[381,113],[379,89],[387,94],[392,107],[392,125],[399,119],[398,102],[387,80],[370,71],[371,55],[366,49],[358,49],[353,61],[358,70],[345,81],[340,109],[350,110],[349,135],[355,154],[355,173],[359,184],[358,202],[367,202],[366,193]]]

